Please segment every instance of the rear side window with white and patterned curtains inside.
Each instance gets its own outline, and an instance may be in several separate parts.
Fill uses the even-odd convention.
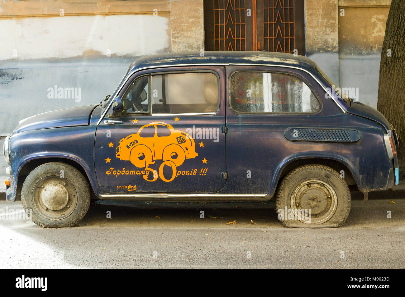
[[[230,104],[236,112],[317,112],[321,104],[301,79],[290,74],[235,72]]]

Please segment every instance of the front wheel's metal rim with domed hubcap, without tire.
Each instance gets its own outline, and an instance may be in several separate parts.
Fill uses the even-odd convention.
[[[49,175],[35,183],[31,201],[41,216],[57,221],[68,217],[75,210],[77,192],[66,178]]]

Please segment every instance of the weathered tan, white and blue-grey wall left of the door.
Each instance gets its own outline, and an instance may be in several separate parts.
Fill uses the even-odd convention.
[[[199,51],[202,10],[202,0],[3,1],[0,135],[34,114],[100,102],[137,57]],[[52,96],[55,86],[80,97]]]

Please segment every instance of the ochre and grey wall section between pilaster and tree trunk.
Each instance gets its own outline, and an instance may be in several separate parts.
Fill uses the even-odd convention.
[[[379,62],[390,0],[340,0],[340,84],[358,88],[358,101],[377,108]]]

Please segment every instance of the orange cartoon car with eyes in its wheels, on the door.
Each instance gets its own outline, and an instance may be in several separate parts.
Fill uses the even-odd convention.
[[[198,156],[194,139],[164,122],[142,126],[136,134],[121,139],[115,152],[117,158],[139,168],[145,168],[155,160],[170,160],[180,166],[185,159]]]

